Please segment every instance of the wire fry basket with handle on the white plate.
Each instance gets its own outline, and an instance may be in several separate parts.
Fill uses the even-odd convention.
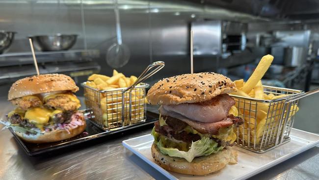
[[[287,96],[263,100],[231,95],[236,101],[239,117],[244,123],[234,127],[235,144],[257,153],[264,153],[290,141],[294,115],[299,110],[299,99],[319,91],[303,92],[286,88],[263,86],[265,93]]]

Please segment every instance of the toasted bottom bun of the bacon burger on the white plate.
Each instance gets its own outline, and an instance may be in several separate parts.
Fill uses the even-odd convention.
[[[195,157],[192,162],[180,157],[164,155],[153,143],[154,161],[165,170],[186,175],[207,175],[224,168],[227,164],[237,163],[237,151],[227,147],[209,156]]]

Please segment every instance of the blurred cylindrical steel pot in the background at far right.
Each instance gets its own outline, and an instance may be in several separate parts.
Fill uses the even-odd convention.
[[[286,66],[296,67],[304,64],[304,48],[298,46],[287,47],[284,50],[284,61]]]

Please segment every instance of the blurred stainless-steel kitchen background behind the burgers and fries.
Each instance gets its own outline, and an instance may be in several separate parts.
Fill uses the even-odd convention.
[[[147,81],[152,85],[190,72],[190,30],[195,72],[246,79],[272,54],[264,84],[308,91],[319,83],[318,7],[317,0],[0,0],[0,93],[36,73],[28,36],[77,35],[69,50],[36,52],[40,73],[65,73],[80,84],[92,73],[111,75],[114,67],[137,76],[163,60],[164,69]],[[116,10],[119,64],[107,57],[117,43]],[[319,133],[318,101],[319,95],[300,101],[294,127]]]

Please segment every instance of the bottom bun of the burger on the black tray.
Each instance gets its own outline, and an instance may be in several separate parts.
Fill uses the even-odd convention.
[[[58,129],[50,132],[45,132],[44,134],[25,134],[16,131],[15,133],[25,142],[28,143],[51,143],[56,141],[62,141],[65,139],[69,139],[75,137],[82,133],[85,130],[86,122],[83,120],[83,125],[78,125],[75,128],[70,129],[69,131],[65,129]],[[69,133],[70,132],[70,133]]]

